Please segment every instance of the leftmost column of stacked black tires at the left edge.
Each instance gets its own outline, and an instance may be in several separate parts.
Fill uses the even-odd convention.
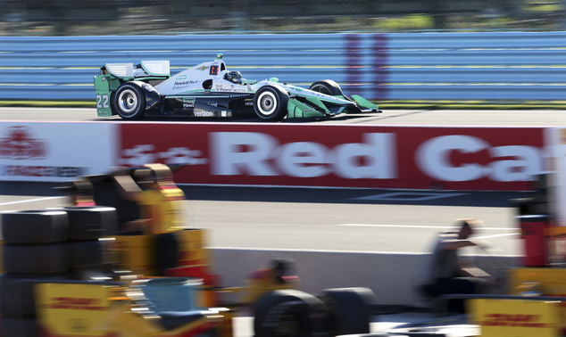
[[[2,214],[5,274],[0,277],[3,337],[39,336],[34,285],[65,279],[70,269],[69,221],[62,210]]]

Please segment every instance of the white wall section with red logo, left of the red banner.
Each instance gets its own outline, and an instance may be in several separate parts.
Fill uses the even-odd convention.
[[[0,180],[65,182],[107,173],[120,147],[111,123],[0,123]]]

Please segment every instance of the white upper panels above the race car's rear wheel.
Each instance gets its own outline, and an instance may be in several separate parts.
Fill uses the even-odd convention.
[[[142,61],[136,67],[134,63],[106,63],[100,73],[116,78],[171,77],[169,61]]]

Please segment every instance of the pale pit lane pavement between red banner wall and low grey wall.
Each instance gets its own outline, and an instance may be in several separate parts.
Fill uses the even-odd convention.
[[[64,205],[53,186],[0,184],[0,211]],[[479,236],[511,255],[518,253],[519,240],[509,199],[526,196],[205,186],[183,190],[189,224],[212,229],[214,247],[426,252],[434,234],[450,229],[455,218],[481,218],[486,228]]]

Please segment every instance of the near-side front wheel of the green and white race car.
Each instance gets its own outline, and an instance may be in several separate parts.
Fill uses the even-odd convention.
[[[255,114],[263,120],[280,120],[287,115],[289,95],[280,86],[262,86],[254,95]]]

